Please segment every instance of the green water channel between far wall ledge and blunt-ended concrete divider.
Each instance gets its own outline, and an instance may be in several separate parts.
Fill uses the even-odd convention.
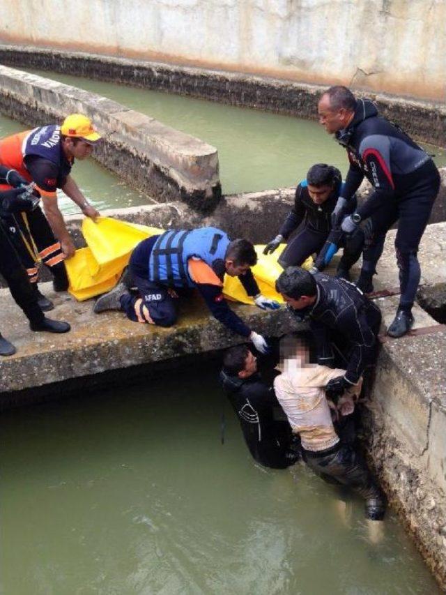
[[[225,194],[293,186],[314,163],[336,165],[344,176],[348,170],[345,149],[314,121],[83,77],[29,72],[93,91],[217,147]],[[446,165],[445,151],[428,149],[438,154],[438,165]]]

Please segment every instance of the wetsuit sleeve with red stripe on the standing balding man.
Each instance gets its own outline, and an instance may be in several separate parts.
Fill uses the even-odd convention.
[[[366,219],[394,197],[395,186],[390,167],[390,138],[385,135],[365,137],[360,144],[360,156],[367,165],[374,186],[374,192],[357,209],[362,219]]]

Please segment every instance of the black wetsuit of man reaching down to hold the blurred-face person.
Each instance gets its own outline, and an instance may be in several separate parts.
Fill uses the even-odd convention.
[[[376,359],[380,309],[352,283],[316,273],[317,298],[306,312],[292,310],[296,317],[310,319],[318,363],[333,367],[334,348],[345,359],[346,380],[356,384]]]

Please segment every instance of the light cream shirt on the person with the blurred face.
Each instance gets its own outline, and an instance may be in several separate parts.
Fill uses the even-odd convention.
[[[316,364],[299,367],[293,359],[287,360],[284,372],[274,381],[274,389],[293,432],[300,435],[302,447],[307,451],[323,451],[339,442],[334,430],[330,407],[324,387],[332,378],[344,376],[345,370]],[[362,381],[348,389],[358,396]]]

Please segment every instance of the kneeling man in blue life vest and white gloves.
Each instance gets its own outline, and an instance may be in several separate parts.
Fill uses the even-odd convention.
[[[190,231],[171,229],[141,241],[130,257],[128,275],[101,296],[94,311],[124,310],[130,320],[172,326],[178,317],[178,293],[197,288],[213,316],[231,331],[251,340],[264,353],[266,340],[251,331],[228,306],[222,294],[224,274],[238,277],[259,308],[279,308],[262,296],[250,266],[257,262],[247,240],[231,241],[217,227]],[[129,287],[137,287],[137,294]]]

